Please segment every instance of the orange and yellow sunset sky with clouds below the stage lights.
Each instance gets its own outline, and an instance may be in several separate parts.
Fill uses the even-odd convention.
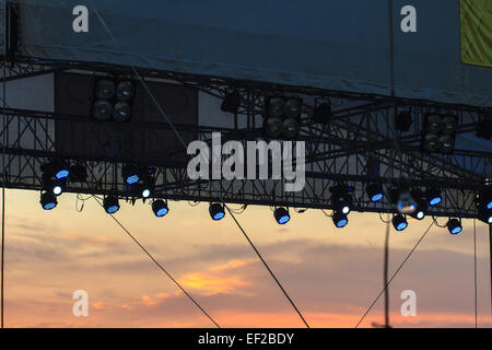
[[[94,199],[82,212],[74,195],[49,212],[38,200],[7,190],[7,327],[213,327]],[[231,217],[169,206],[157,219],[141,201],[124,205],[117,218],[222,327],[303,327]],[[385,224],[370,213],[343,230],[320,211],[292,217],[279,226],[268,207],[249,207],[237,218],[312,327],[354,327],[383,287]],[[391,273],[430,220],[391,230]],[[472,223],[458,236],[431,229],[391,284],[393,326],[475,326]],[[479,326],[490,327],[489,228],[477,228]],[[89,317],[72,316],[77,290],[89,293]],[[405,290],[417,293],[415,317],[400,315]],[[380,301],[361,326],[383,323],[382,311]]]

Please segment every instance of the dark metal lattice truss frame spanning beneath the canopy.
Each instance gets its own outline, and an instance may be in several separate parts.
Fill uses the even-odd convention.
[[[131,74],[128,67],[86,62],[45,61],[35,58],[16,58],[5,67],[7,81],[25,79],[58,71],[117,72]],[[147,79],[160,79],[196,88],[211,96],[223,98],[232,91],[239,92],[241,106],[234,116],[245,118],[246,127],[192,127],[176,125],[178,131],[196,132],[197,139],[210,142],[212,132],[221,132],[224,140],[262,139],[261,120],[263,97],[276,94],[298,95],[305,100],[298,141],[306,144],[306,186],[300,192],[285,192],[282,180],[190,180],[186,174],[188,156],[183,162],[142,156],[140,165],[156,170],[156,197],[171,200],[213,201],[222,197],[226,202],[260,206],[285,206],[330,210],[329,188],[344,183],[354,187],[354,210],[395,212],[394,206],[384,201],[370,202],[365,186],[377,182],[386,189],[401,184],[425,189],[437,186],[443,190],[443,203],[434,208],[436,217],[476,218],[477,192],[488,188],[492,178],[492,150],[470,152],[456,149],[453,154],[438,155],[420,152],[421,118],[429,112],[453,113],[459,118],[459,133],[473,131],[482,115],[492,108],[437,104],[430,101],[394,98],[379,95],[325,91],[312,88],[284,86],[262,82],[238,81],[224,78],[184,74],[141,69]],[[311,118],[315,104],[329,101],[333,116],[329,124],[315,124]],[[410,110],[413,126],[409,132],[394,129],[398,110]],[[50,159],[65,159],[85,165],[87,179],[72,182],[68,191],[107,195],[116,191],[122,198],[132,198],[119,176],[120,168],[129,162],[125,156],[106,159],[80,158],[65,154],[55,147],[54,126],[57,120],[77,125],[86,122],[78,116],[56,115],[42,110],[7,108],[3,117],[1,185],[9,188],[42,190],[39,167]],[[110,121],[108,121],[110,122]],[[130,121],[132,122],[132,121]],[[105,122],[97,122],[105,128]],[[166,128],[163,125],[138,125],[136,132],[145,128]],[[28,144],[27,144],[28,143]],[[185,150],[176,153],[186,155]],[[380,172],[376,178],[366,175],[370,160],[377,159]]]

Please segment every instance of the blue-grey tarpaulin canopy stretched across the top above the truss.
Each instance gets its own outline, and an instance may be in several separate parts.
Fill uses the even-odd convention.
[[[390,95],[387,0],[19,0],[23,54]],[[74,33],[86,5],[90,32]],[[394,0],[395,94],[492,106],[492,69],[465,65],[460,1]],[[95,13],[107,24],[117,43]]]

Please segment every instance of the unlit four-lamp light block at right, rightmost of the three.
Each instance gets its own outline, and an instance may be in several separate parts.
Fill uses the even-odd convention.
[[[427,153],[453,153],[458,117],[436,113],[425,114],[422,124],[421,151]]]

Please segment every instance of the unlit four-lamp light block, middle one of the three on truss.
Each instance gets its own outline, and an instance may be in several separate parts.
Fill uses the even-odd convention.
[[[266,97],[263,131],[272,139],[298,136],[303,101],[298,97]]]

